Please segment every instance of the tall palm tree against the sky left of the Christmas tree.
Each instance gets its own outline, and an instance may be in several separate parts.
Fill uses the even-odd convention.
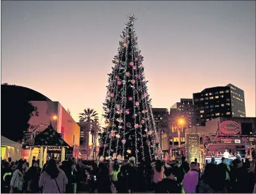
[[[98,121],[98,113],[94,109],[84,109],[83,113],[79,113],[79,122],[84,124],[83,142],[89,145],[89,132],[92,129],[93,121]],[[85,136],[86,133],[86,136]]]

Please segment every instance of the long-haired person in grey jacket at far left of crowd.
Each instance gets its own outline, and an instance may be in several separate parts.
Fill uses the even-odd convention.
[[[20,160],[18,161],[17,169],[12,174],[10,193],[23,193],[26,191],[26,186],[24,185],[26,163]]]

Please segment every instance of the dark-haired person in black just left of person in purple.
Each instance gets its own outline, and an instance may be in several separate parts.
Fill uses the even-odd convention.
[[[181,189],[173,172],[173,168],[167,168],[165,170],[166,178],[158,182],[155,193],[181,193]]]

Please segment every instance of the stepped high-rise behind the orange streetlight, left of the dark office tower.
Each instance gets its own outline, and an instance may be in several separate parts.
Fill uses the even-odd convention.
[[[192,98],[181,98],[181,102],[176,102],[170,108],[170,117],[175,119],[184,119],[184,126],[191,127],[194,125],[194,108]]]

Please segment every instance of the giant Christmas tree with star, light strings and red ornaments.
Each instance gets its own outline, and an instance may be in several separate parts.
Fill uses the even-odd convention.
[[[114,67],[108,74],[108,91],[104,103],[105,128],[101,138],[100,157],[114,153],[135,163],[162,159],[158,134],[150,105],[142,66],[143,57],[137,45],[133,15],[127,16]]]

